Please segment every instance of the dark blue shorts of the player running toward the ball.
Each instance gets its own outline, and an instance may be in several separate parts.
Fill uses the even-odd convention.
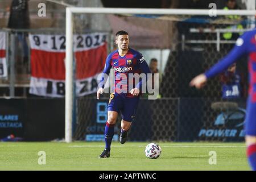
[[[110,94],[108,111],[121,111],[122,119],[133,122],[139,104],[139,96],[125,97],[118,93]]]

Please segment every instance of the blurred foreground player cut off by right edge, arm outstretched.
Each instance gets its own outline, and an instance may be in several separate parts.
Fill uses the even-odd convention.
[[[228,69],[242,55],[248,55],[249,97],[247,98],[245,119],[245,141],[247,158],[251,168],[256,170],[256,29],[245,32],[237,39],[236,46],[222,60],[207,72],[196,76],[190,82],[197,89],[202,88],[209,78]]]

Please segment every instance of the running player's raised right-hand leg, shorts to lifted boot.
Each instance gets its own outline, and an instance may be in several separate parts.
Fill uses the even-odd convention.
[[[119,141],[121,144],[125,143],[127,140],[128,131],[130,130],[131,123],[135,118],[138,104],[139,104],[139,97],[133,97],[133,98],[127,97],[124,100],[123,108],[121,110],[122,121],[121,121],[121,133],[119,137]]]

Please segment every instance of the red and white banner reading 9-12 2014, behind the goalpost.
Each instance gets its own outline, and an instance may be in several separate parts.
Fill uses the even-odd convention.
[[[30,35],[30,93],[38,96],[65,96],[65,36]],[[92,33],[73,36],[76,60],[76,94],[97,92],[97,77],[107,56],[106,34]]]

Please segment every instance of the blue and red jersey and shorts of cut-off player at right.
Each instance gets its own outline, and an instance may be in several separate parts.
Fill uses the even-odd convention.
[[[245,32],[237,39],[236,46],[222,60],[205,72],[207,78],[228,69],[242,55],[248,55],[249,97],[246,106],[246,135],[256,136],[256,29]]]

